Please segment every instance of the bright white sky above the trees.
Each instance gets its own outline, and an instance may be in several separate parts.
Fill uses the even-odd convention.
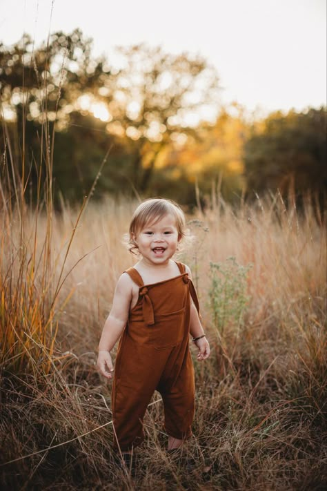
[[[265,113],[326,104],[326,0],[0,0],[4,44],[77,27],[95,55],[142,41],[203,55],[226,104]]]

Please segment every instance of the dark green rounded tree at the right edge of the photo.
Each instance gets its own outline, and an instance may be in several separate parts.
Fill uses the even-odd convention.
[[[248,193],[267,189],[297,197],[310,191],[326,200],[326,108],[270,115],[244,146]]]

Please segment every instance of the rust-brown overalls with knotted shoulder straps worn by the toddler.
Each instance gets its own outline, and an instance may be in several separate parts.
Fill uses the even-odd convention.
[[[135,268],[126,271],[139,286],[115,362],[112,384],[114,446],[130,450],[143,441],[143,416],[157,389],[164,402],[165,429],[188,438],[195,411],[195,383],[188,347],[190,295],[199,312],[197,294],[185,265],[180,275],[151,285]]]

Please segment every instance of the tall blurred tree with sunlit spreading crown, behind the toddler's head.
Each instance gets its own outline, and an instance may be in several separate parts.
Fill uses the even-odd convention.
[[[201,57],[170,55],[145,44],[118,48],[121,68],[103,81],[108,91],[109,133],[128,140],[132,180],[146,191],[167,146],[195,135],[209,106],[217,107],[218,77]],[[103,97],[106,100],[106,96]],[[202,115],[203,117],[203,115]]]

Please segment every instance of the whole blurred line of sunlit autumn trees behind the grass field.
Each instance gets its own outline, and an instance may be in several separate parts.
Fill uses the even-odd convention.
[[[146,45],[92,55],[80,30],[35,47],[0,44],[2,182],[8,164],[30,175],[31,195],[51,160],[54,193],[239,201],[266,190],[326,204],[326,108],[249,122],[219,104],[219,78],[201,57]],[[208,123],[215,116],[215,122]],[[52,144],[52,137],[53,144]],[[211,198],[210,198],[211,197]]]

